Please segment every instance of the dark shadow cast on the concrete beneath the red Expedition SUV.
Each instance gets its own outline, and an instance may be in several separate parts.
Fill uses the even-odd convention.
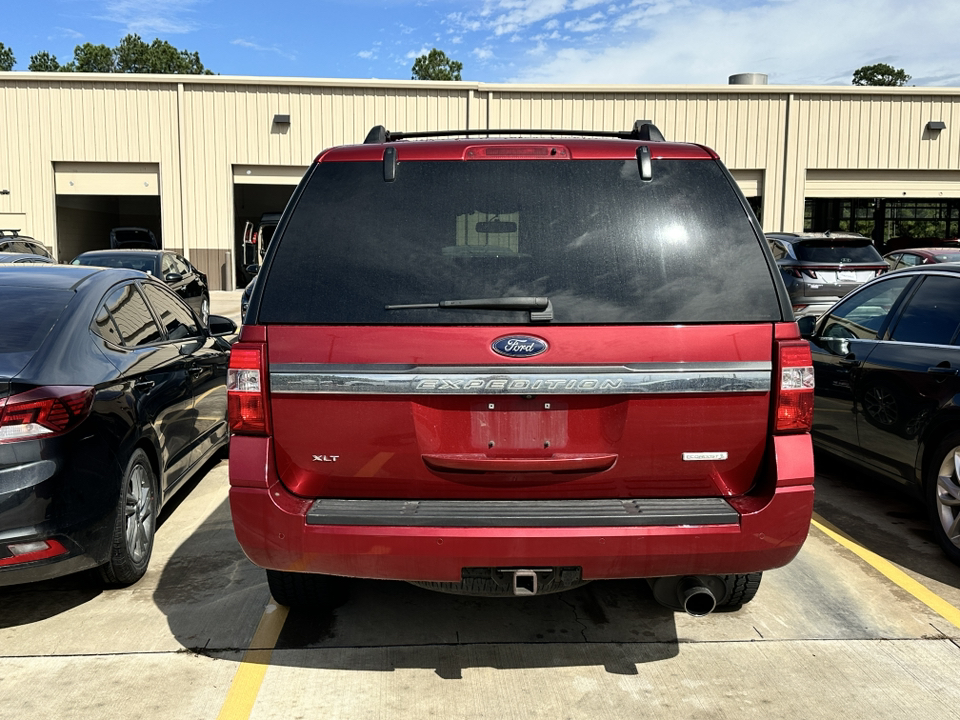
[[[264,572],[243,555],[223,502],[184,541],[154,593],[185,647],[246,650],[269,600]],[[326,607],[293,610],[272,665],[389,672],[426,668],[636,665],[678,654],[674,614],[640,580],[594,582],[532,598],[449,595],[397,581],[343,579]]]

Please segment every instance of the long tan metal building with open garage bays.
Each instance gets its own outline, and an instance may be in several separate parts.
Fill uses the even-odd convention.
[[[960,234],[960,88],[532,86],[0,73],[0,228],[61,261],[147,227],[206,272],[242,273],[243,227],[324,148],[393,130],[627,130],[715,149],[765,230],[877,242]]]

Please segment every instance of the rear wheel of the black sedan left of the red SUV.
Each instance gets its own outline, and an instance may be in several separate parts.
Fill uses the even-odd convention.
[[[117,508],[110,560],[100,568],[109,585],[132,585],[143,577],[153,552],[157,529],[157,493],[153,470],[143,450],[134,451]]]

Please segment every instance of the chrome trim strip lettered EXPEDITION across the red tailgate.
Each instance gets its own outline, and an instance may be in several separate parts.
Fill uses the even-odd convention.
[[[761,393],[770,390],[772,370],[771,363],[482,368],[275,365],[270,370],[270,390],[337,395]]]

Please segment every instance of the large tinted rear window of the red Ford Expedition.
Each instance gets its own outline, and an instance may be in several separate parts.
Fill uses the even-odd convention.
[[[319,163],[266,269],[276,324],[525,324],[387,305],[546,297],[554,324],[780,320],[776,286],[712,161]]]

